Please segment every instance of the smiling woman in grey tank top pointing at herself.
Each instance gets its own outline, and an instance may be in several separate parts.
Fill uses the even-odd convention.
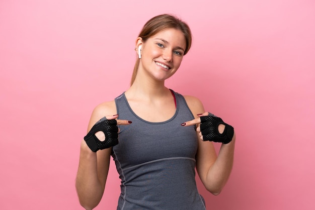
[[[233,164],[233,127],[205,112],[198,98],[165,86],[190,46],[188,25],[174,16],[144,25],[130,88],[95,108],[81,143],[76,191],[86,209],[102,198],[110,156],[121,178],[117,209],[205,209],[195,168],[208,191],[222,190]],[[222,143],[218,155],[213,141]]]

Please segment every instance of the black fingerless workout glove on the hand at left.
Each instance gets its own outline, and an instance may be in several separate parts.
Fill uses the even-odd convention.
[[[102,131],[105,140],[100,141],[95,134]],[[113,147],[118,144],[118,127],[116,120],[107,120],[105,117],[96,122],[91,131],[84,137],[87,145],[93,152]]]

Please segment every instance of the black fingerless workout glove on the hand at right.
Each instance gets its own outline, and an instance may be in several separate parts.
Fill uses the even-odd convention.
[[[201,116],[200,121],[200,131],[203,141],[221,142],[223,144],[227,144],[232,140],[234,129],[232,126],[224,123],[221,118],[209,113],[208,116]],[[222,134],[220,134],[218,130],[218,126],[220,124],[225,125]]]

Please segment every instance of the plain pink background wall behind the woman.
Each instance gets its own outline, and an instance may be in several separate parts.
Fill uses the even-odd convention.
[[[91,112],[128,88],[137,34],[162,13],[194,36],[167,85],[237,131],[221,194],[198,181],[208,209],[315,209],[313,0],[0,1],[0,209],[81,209]],[[96,209],[119,190],[111,164]]]

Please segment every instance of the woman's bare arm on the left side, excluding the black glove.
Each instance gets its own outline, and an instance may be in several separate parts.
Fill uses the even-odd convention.
[[[92,113],[88,131],[104,116],[113,116],[115,114],[114,101],[100,104]],[[101,133],[99,135],[101,136]],[[98,138],[101,137],[98,136]],[[81,142],[75,187],[80,204],[86,209],[93,209],[101,201],[109,170],[111,151],[112,148],[93,152],[85,140]]]

